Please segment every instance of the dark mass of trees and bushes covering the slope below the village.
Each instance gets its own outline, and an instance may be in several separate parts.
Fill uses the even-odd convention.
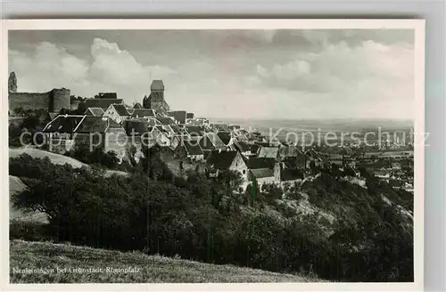
[[[339,217],[338,223],[326,223],[331,226],[327,233],[318,215],[299,215],[286,207],[274,186],[239,192],[242,180],[230,172],[219,180],[194,172],[176,177],[156,150],[146,151],[131,175],[110,177],[100,167],[75,169],[27,155],[11,158],[10,174],[29,186],[12,201],[45,212],[45,235],[55,241],[311,272],[328,280],[413,280],[411,223],[407,227],[398,209],[383,202],[383,186],[372,177],[368,189],[329,172],[286,188],[286,197],[300,200],[305,192],[312,205]],[[409,205],[401,191],[384,191],[399,205]]]

